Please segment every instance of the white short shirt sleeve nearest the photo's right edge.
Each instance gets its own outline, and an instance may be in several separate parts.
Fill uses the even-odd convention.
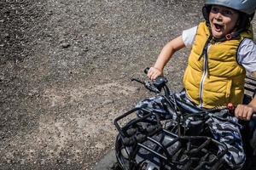
[[[256,44],[253,40],[245,38],[237,51],[237,61],[247,71],[256,71]]]

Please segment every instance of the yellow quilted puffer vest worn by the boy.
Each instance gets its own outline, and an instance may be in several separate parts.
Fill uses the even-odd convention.
[[[246,71],[237,63],[236,53],[245,37],[253,39],[253,31],[241,32],[236,39],[210,42],[204,54],[209,37],[206,23],[200,23],[183,77],[186,93],[196,105],[205,108],[227,105],[229,102],[241,104]]]

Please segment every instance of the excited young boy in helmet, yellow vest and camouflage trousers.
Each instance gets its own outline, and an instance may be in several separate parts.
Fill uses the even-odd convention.
[[[185,91],[180,95],[207,109],[231,102],[237,105],[237,118],[250,120],[256,111],[256,96],[248,105],[242,105],[242,99],[246,71],[256,77],[256,45],[250,25],[255,8],[255,0],[205,0],[206,21],[168,42],[148,77],[154,81],[163,75],[166,63],[177,50],[192,47],[183,77]],[[237,122],[236,117],[230,119]],[[217,119],[207,124],[213,136],[229,148],[225,161],[232,169],[241,169],[246,156],[239,127]]]

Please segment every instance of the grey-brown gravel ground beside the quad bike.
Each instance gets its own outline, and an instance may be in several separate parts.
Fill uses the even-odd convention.
[[[93,168],[113,149],[113,118],[152,95],[131,77],[145,77],[163,45],[196,26],[201,7],[195,0],[1,0],[1,169]],[[166,66],[176,91],[188,54],[177,52]]]

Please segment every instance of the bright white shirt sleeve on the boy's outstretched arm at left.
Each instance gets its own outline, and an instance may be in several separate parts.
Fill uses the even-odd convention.
[[[187,48],[191,48],[193,42],[195,41],[195,34],[197,31],[197,26],[184,30],[182,34],[183,42]]]

